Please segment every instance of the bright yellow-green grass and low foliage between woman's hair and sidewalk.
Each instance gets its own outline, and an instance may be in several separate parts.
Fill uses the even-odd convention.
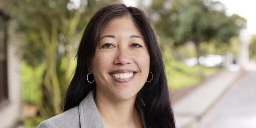
[[[171,41],[172,40],[166,40],[165,43]],[[176,49],[168,47],[168,45],[163,45],[162,43],[160,46],[164,59],[168,87],[170,89],[180,89],[186,86],[197,84],[202,81],[205,76],[211,75],[218,71],[218,68],[208,68],[201,65],[188,67],[183,62],[174,59],[174,57],[180,59],[183,57],[195,57],[195,51],[193,48],[191,48],[194,47],[192,44],[186,44],[185,46],[180,46]],[[189,56],[189,54],[194,55]]]

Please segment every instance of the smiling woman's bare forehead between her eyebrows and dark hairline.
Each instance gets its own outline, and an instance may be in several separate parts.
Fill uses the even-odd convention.
[[[103,29],[100,36],[104,35],[116,35],[116,34],[127,34],[127,35],[138,35],[141,36],[140,31],[137,29],[132,18],[130,16],[117,17],[109,21],[107,26]]]

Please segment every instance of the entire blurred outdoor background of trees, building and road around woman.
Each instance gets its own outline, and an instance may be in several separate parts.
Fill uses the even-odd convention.
[[[256,127],[256,2],[0,0],[0,127],[61,113],[90,18],[122,2],[159,40],[177,127]]]

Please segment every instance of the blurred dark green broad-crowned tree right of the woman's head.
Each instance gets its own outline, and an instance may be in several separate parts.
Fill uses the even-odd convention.
[[[155,20],[159,35],[172,38],[175,46],[192,41],[197,57],[201,55],[201,42],[229,43],[246,25],[246,20],[238,15],[227,17],[224,5],[219,2],[162,0],[153,1],[152,9],[150,17]]]

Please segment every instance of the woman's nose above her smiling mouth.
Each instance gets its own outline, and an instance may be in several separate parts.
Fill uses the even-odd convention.
[[[116,58],[114,59],[114,64],[116,65],[125,65],[131,63],[131,56],[129,49],[127,48],[118,48],[116,52]]]

